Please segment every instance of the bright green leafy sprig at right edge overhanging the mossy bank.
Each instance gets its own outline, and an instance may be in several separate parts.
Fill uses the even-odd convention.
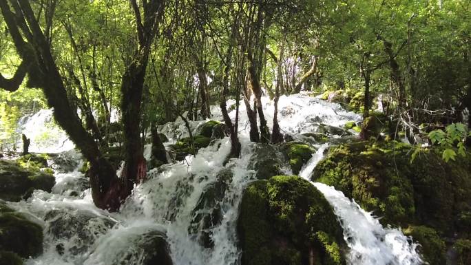
[[[442,158],[446,162],[455,160],[457,154],[466,155],[464,140],[467,136],[471,137],[471,131],[467,132],[463,123],[452,123],[446,127],[445,131],[437,129],[428,133],[432,145],[440,145],[444,149]]]

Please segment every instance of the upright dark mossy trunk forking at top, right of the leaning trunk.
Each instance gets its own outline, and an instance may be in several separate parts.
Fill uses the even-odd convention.
[[[131,63],[127,66],[121,81],[121,110],[125,136],[125,166],[121,176],[121,200],[134,188],[134,184],[145,180],[146,165],[143,145],[140,139],[141,104],[149,52],[158,31],[158,23],[163,17],[164,1],[143,1],[143,18],[136,0],[131,6],[136,17],[138,47],[134,50]]]

